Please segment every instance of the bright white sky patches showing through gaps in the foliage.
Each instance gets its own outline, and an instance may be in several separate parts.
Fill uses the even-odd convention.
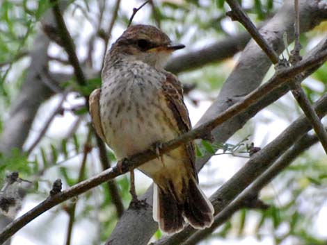
[[[133,6],[138,6],[140,4],[140,1],[135,0],[122,0],[121,8],[122,10],[126,12],[131,12],[131,8]],[[94,8],[94,6],[90,5],[90,8]],[[146,14],[140,14],[138,13],[136,17],[134,18],[135,23],[147,23],[146,21],[143,21],[143,19],[146,19],[148,9],[144,8],[142,10]],[[68,19],[66,16],[66,23],[70,29],[70,31],[74,34],[74,31],[77,30],[84,33],[83,37],[85,37],[85,40],[81,40],[81,43],[77,44],[79,47],[78,54],[79,59],[83,60],[84,57],[86,57],[86,49],[85,46],[83,47],[81,44],[85,44],[88,40],[88,37],[90,37],[93,26],[92,24],[88,23],[83,19],[83,15],[81,15],[81,12],[79,10],[76,10],[74,12],[74,18],[79,17],[81,22],[74,22],[72,19]],[[108,19],[111,18],[111,16],[106,17]],[[83,23],[83,24],[81,24]],[[234,24],[230,22],[228,19],[224,22],[225,28],[228,28],[231,33],[233,33],[234,30]],[[124,26],[116,25],[113,29],[113,37],[111,38],[111,42],[113,42],[115,39],[117,39],[122,31],[124,30]],[[183,40],[186,41],[187,40]],[[207,39],[203,40],[202,42],[198,42],[196,44],[189,44],[191,46],[190,48],[199,47],[207,44]],[[103,46],[100,42],[98,42],[97,49],[95,50],[95,53],[102,53],[103,52]],[[49,53],[53,56],[58,56],[58,53],[61,53],[61,49],[59,49],[56,44],[51,45],[51,49],[49,49]],[[65,57],[64,53],[61,53],[62,57]],[[101,56],[96,56],[101,57]],[[101,62],[99,60],[95,60],[95,63],[97,64],[97,67],[101,67]],[[58,64],[52,64],[51,70],[53,71],[71,71],[70,67],[61,67]],[[308,81],[306,82],[308,83]],[[317,83],[316,83],[317,84]],[[315,85],[314,81],[310,81],[310,85]],[[324,88],[317,87],[317,90],[321,90]],[[218,92],[214,92],[212,94],[212,97],[216,97],[218,95]],[[206,100],[206,95],[201,92],[192,92],[190,94],[193,98],[201,99],[200,103],[197,107],[195,107],[188,99],[186,99],[186,105],[189,108],[190,117],[192,124],[195,125],[198,119],[202,116],[202,114],[207,110],[209,105],[211,104],[211,101]],[[33,142],[33,139],[38,135],[38,131],[40,128],[42,128],[45,120],[47,117],[51,114],[51,111],[49,111],[49,107],[54,108],[58,101],[60,100],[60,96],[54,96],[53,99],[47,101],[45,105],[40,108],[40,112],[38,113],[38,117],[35,120],[35,123],[33,124],[33,130],[29,137],[28,142],[26,143],[26,146],[29,146],[31,142]],[[75,105],[77,103],[80,103],[81,101],[79,99],[76,99],[74,94],[71,94],[68,96],[67,101],[64,103],[65,108],[71,108],[72,105]],[[243,131],[241,132],[241,135],[246,136],[248,134],[252,135],[250,137],[251,141],[255,142],[255,146],[265,146],[268,142],[271,142],[276,136],[278,136],[283,129],[285,129],[291,121],[296,119],[299,115],[299,111],[296,109],[296,104],[294,103],[294,99],[292,96],[285,96],[280,101],[278,101],[280,105],[287,106],[288,110],[282,111],[280,110],[278,113],[276,113],[276,105],[271,105],[269,108],[264,109],[262,112],[260,112],[255,119],[250,120],[250,122],[247,124],[246,127],[244,127]],[[272,112],[272,109],[275,109]],[[40,116],[42,115],[42,117]],[[74,122],[76,117],[70,113],[65,112],[64,116],[58,116],[51,124],[49,130],[47,131],[47,137],[42,140],[42,144],[47,145],[48,139],[60,139],[63,137],[67,131],[69,131],[70,126]],[[79,129],[79,133],[86,132],[85,127],[81,127]],[[236,143],[239,140],[237,137],[232,137],[232,139],[229,142]],[[317,152],[317,157],[322,157],[323,152],[321,150],[321,146],[315,146],[314,150]],[[73,158],[72,160],[69,160],[65,162],[65,166],[69,166],[71,169],[78,169],[79,168],[79,162],[80,162],[81,155],[77,156],[76,158]],[[97,164],[94,164],[92,168],[94,173],[97,174],[101,171],[101,167],[98,164],[97,160],[97,154],[93,152],[91,154],[91,158],[93,158],[92,162],[97,162]],[[212,158],[211,163],[207,164],[207,166],[202,170],[200,173],[200,183],[212,183],[212,180],[214,179],[213,176],[216,176],[216,181],[219,185],[224,183],[226,180],[228,180],[232,175],[239,169],[244,162],[246,162],[246,159],[244,158],[235,158],[231,157],[230,155],[219,155],[214,158]],[[76,171],[77,173],[77,171]],[[36,194],[33,196],[29,196],[29,198],[26,198],[26,201],[24,202],[22,210],[19,212],[19,215],[24,214],[24,212],[27,212],[31,208],[33,208],[35,205],[37,205],[42,198],[46,197],[47,191],[50,189],[51,183],[56,180],[58,177],[58,169],[56,167],[53,167],[49,169],[49,171],[46,172],[44,179],[47,180],[44,183],[40,183],[40,186],[45,190],[45,194],[40,195]],[[146,189],[147,185],[150,185],[151,180],[144,176],[143,174],[139,173],[136,174],[136,188],[138,191],[142,191]],[[272,187],[272,185],[269,185],[269,187],[266,188],[266,192],[274,192],[276,189],[278,189],[278,184],[273,184],[275,187]],[[216,189],[215,185],[215,189]],[[64,186],[64,188],[67,186]],[[276,189],[274,189],[276,188]],[[207,196],[212,194],[212,192],[215,189],[210,188],[204,188],[205,193]],[[97,192],[97,188],[93,190],[95,192],[95,196],[98,196],[99,194]],[[41,196],[41,198],[40,198]],[[98,196],[99,199],[101,199],[101,196]],[[282,202],[282,196],[278,197],[277,202]],[[287,198],[287,197],[285,197]],[[83,196],[79,197],[79,201],[83,199]],[[97,198],[95,198],[97,199]],[[99,203],[99,200],[95,200],[95,206]],[[309,207],[310,208],[310,207]],[[77,205],[77,213],[79,212],[79,204]],[[228,239],[211,239],[209,242],[202,242],[201,244],[265,244],[270,245],[273,244],[273,240],[269,236],[269,234],[262,234],[264,235],[264,238],[262,240],[258,240],[255,238],[254,234],[254,228],[255,228],[255,222],[257,222],[256,213],[253,212],[253,219],[248,220],[248,223],[246,225],[246,234],[247,236],[244,239],[239,239],[237,237],[237,234],[232,234],[228,237]],[[101,217],[95,217],[95,219],[101,219]],[[51,220],[51,222],[49,222]],[[324,207],[321,209],[321,212],[319,213],[317,217],[316,226],[313,228],[316,230],[316,232],[321,235],[321,237],[326,237],[326,220],[327,220],[327,208]],[[61,211],[60,208],[54,208],[50,210],[49,212],[42,214],[40,217],[29,223],[27,226],[25,226],[22,230],[20,230],[14,237],[13,237],[13,245],[43,245],[45,244],[45,241],[47,241],[47,245],[54,245],[54,244],[63,244],[65,242],[65,233],[66,233],[66,226],[67,226],[68,216],[65,212]],[[91,237],[97,237],[97,226],[98,223],[94,223],[90,220],[83,220],[78,221],[74,225],[73,230],[73,237],[72,237],[72,244],[74,245],[86,245],[92,239]],[[287,229],[287,228],[285,228]],[[39,230],[43,230],[44,234],[40,234]],[[87,230],[87,232],[86,232]],[[282,233],[282,230],[281,230]],[[42,238],[43,237],[43,238]],[[285,242],[286,244],[293,244],[294,241],[288,241]]]

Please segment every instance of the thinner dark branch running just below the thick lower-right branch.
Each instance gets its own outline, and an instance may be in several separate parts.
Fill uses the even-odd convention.
[[[214,218],[214,223],[210,228],[197,230],[196,233],[184,242],[184,245],[198,244],[200,240],[211,235],[216,228],[230,219],[232,214],[237,212],[239,208],[242,208],[244,201],[248,200],[248,198],[253,196],[253,194],[259,193],[264,186],[268,185],[271,180],[273,180],[273,178],[276,178],[281,171],[292,164],[298,155],[303,153],[303,151],[306,151],[313,144],[316,144],[318,140],[317,135],[306,134],[301,137],[301,139],[298,140],[291,149],[286,151],[269,169],[264,172],[264,174],[259,176],[248,189],[242,192],[237,199],[232,201],[232,203],[219,212]]]

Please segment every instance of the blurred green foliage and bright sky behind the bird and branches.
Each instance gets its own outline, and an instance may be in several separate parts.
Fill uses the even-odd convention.
[[[282,4],[282,0],[239,2],[257,25],[269,19]],[[61,178],[64,187],[67,187],[102,171],[83,96],[90,94],[101,83],[99,74],[106,38],[110,47],[126,28],[132,8],[141,5],[142,1],[122,0],[113,30],[107,33],[116,3],[106,0],[66,2],[65,21],[87,74],[88,85],[81,87],[74,78],[61,83],[61,89],[70,92],[39,144],[27,152],[46,119],[56,112],[61,95],[52,96],[42,105],[24,149],[13,149],[10,157],[4,154],[0,156],[2,180],[8,171],[19,171],[22,178],[33,182],[33,188],[24,198],[22,212],[45,198],[56,178]],[[50,5],[45,0],[2,0],[0,4],[1,134],[6,119],[10,117],[10,108],[26,78],[31,62],[29,52],[38,45],[35,38],[42,30],[48,30],[42,24],[42,19],[49,15]],[[172,40],[186,44],[184,52],[188,52],[244,32],[240,24],[231,22],[225,16],[228,10],[223,0],[154,1],[153,6],[148,4],[137,13],[134,23],[160,26]],[[323,23],[301,37],[304,52],[326,35],[326,26]],[[51,36],[51,31],[49,33],[48,30],[47,35]],[[56,42],[51,42],[48,53],[42,55],[49,56],[49,64],[45,64],[49,71],[72,73],[65,52]],[[287,56],[287,52],[284,55]],[[195,85],[186,94],[193,124],[218,95],[237,57],[238,54],[235,54],[234,58],[179,74],[182,83]],[[326,93],[326,86],[326,65],[303,83],[311,101]],[[251,119],[228,144],[202,142],[204,147],[201,147],[201,151],[217,154],[200,174],[201,184],[207,194],[217,189],[226,176],[231,176],[244,164],[244,158],[248,157],[246,144],[254,142],[255,146],[264,146],[280,133],[280,127],[287,126],[300,114],[301,110],[294,99],[287,95]],[[237,157],[239,154],[242,158]],[[107,155],[111,164],[115,164],[115,155],[110,149]],[[198,157],[201,155],[202,152],[198,151]],[[303,153],[291,167],[262,190],[262,200],[270,205],[267,210],[244,209],[237,212],[201,244],[326,244],[326,179],[326,156],[320,146],[313,146],[311,151]],[[131,200],[129,178],[127,175],[120,176],[116,183],[122,203],[127,208]],[[138,194],[143,193],[149,184],[150,180],[138,173]],[[67,230],[70,229],[68,223],[73,205],[76,205],[76,211],[73,215],[73,235],[70,237]],[[42,215],[38,221],[33,221],[17,233],[13,244],[22,241],[25,244],[49,245],[68,242],[101,244],[110,235],[117,219],[108,185],[102,185]],[[83,234],[85,230],[93,231],[93,235]],[[161,233],[158,231],[154,239],[159,237]]]

